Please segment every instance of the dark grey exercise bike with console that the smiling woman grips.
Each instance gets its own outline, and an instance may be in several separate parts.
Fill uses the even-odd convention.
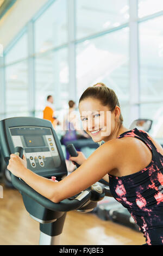
[[[0,121],[0,145],[6,164],[10,154],[27,159],[27,168],[45,178],[67,175],[64,155],[51,122],[39,118],[16,117]],[[109,196],[108,188],[94,184],[77,196],[56,204],[41,196],[23,180],[11,174],[12,184],[22,194],[24,206],[30,217],[40,223],[40,245],[58,245],[66,212],[92,211],[99,200]]]

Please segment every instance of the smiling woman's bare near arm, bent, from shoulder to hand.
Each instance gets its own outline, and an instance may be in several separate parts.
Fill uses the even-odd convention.
[[[54,203],[59,203],[82,192],[117,167],[117,143],[118,140],[115,139],[103,144],[82,166],[57,183],[27,169],[23,160],[16,155],[11,155],[8,169],[36,192]]]

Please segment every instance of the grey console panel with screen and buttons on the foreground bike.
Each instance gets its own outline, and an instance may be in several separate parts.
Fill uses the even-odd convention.
[[[10,127],[14,147],[22,147],[28,168],[40,172],[60,166],[60,156],[52,130],[46,127]]]

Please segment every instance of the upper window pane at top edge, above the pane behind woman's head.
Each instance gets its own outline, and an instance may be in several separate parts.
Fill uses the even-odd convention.
[[[76,0],[76,6],[78,39],[129,20],[128,0]]]

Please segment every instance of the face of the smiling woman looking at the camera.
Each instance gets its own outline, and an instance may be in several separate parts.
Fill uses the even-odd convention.
[[[80,102],[79,112],[83,129],[92,137],[94,142],[109,141],[116,127],[120,113],[110,111],[109,106],[103,106],[101,101],[88,98]]]

